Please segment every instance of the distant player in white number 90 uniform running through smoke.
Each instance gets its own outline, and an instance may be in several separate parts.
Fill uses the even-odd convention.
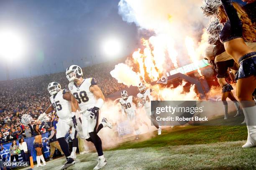
[[[138,105],[134,96],[128,96],[127,91],[123,90],[121,92],[122,99],[119,100],[121,104],[122,115],[125,117],[125,114],[129,121],[132,122],[135,129],[135,139],[138,139],[139,134],[141,134],[138,122],[136,119],[136,106]]]

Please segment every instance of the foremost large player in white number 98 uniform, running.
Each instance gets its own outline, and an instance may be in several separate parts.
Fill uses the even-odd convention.
[[[81,67],[72,65],[67,68],[66,77],[69,80],[68,88],[74,98],[77,100],[79,108],[83,112],[82,129],[84,137],[87,141],[92,142],[98,153],[98,164],[94,170],[99,170],[107,164],[102,151],[102,142],[97,132],[103,127],[112,128],[112,124],[107,119],[102,119],[102,123],[98,125],[99,110],[105,102],[102,91],[97,86],[94,78],[83,79]],[[75,107],[75,106],[74,106]]]

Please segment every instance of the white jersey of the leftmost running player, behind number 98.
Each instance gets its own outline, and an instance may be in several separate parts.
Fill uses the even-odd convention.
[[[67,89],[63,89],[50,97],[51,104],[60,119],[67,119],[72,117],[70,104],[71,102],[63,99],[63,94],[67,92],[69,92]]]

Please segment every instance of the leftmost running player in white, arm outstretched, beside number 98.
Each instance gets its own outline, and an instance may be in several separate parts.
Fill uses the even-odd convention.
[[[76,119],[74,114],[76,110],[72,109],[72,105],[77,105],[77,100],[74,99],[69,90],[61,89],[61,85],[57,82],[51,82],[48,85],[48,91],[51,94],[51,105],[38,117],[38,120],[44,119],[44,117],[46,117],[46,115],[51,113],[53,110],[56,111],[56,114],[59,117],[59,121],[56,125],[56,138],[59,141],[61,150],[64,152],[67,159],[67,162],[65,162],[65,164],[61,167],[61,170],[63,170],[75,163],[69,152],[69,146],[65,140],[65,135],[67,132],[69,132],[70,126],[76,128],[77,132],[83,135],[82,124]]]

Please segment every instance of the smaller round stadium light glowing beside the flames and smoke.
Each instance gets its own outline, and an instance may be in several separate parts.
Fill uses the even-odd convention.
[[[116,57],[121,52],[121,42],[115,38],[106,40],[103,43],[104,52],[110,57]]]

